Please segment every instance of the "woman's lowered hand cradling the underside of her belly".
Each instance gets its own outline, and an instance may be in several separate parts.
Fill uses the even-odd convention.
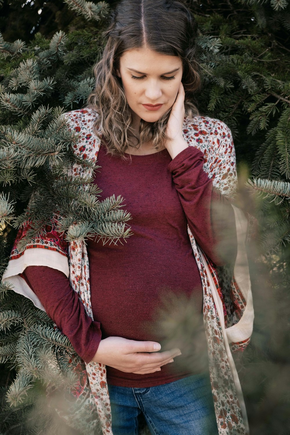
[[[153,345],[158,345],[156,349]],[[158,352],[161,346],[155,341],[128,340],[123,337],[107,337],[100,341],[93,360],[127,373],[153,373],[162,365],[181,355],[180,349]],[[157,353],[158,352],[158,353]]]

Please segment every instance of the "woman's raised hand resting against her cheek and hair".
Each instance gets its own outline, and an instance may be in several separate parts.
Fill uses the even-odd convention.
[[[185,115],[184,97],[185,97],[185,92],[184,92],[183,84],[180,82],[177,97],[172,106],[170,117],[167,122],[167,128],[165,131],[165,133],[167,134],[168,137],[170,137],[170,139],[167,140],[164,145],[167,148],[172,159],[177,154],[179,154],[180,151],[188,147],[188,144],[184,140],[182,134],[183,121]]]

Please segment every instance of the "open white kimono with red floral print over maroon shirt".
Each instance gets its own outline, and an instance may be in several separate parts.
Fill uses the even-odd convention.
[[[91,109],[72,110],[64,115],[79,133],[79,144],[74,153],[83,159],[97,161],[100,140],[93,133],[97,114]],[[209,117],[185,117],[183,136],[190,146],[204,154],[203,169],[213,180],[213,185],[223,194],[233,196],[236,188],[236,167],[233,141],[228,127]],[[106,168],[102,168],[105,171]],[[85,165],[73,164],[69,175],[93,175]],[[245,243],[248,221],[243,212],[233,205],[237,229],[237,258],[233,268],[216,267],[196,244],[189,227],[188,235],[200,271],[203,286],[203,319],[207,336],[210,381],[213,393],[217,427],[220,435],[248,434],[247,414],[240,382],[231,351],[243,350],[250,341],[253,328],[253,303]],[[87,315],[93,318],[90,302],[89,262],[84,241],[63,241],[56,229],[47,226],[41,238],[32,240],[19,251],[18,241],[27,226],[20,229],[14,243],[3,280],[13,284],[13,290],[30,298],[34,305],[44,310],[36,294],[30,289],[21,273],[27,266],[44,265],[62,271],[70,277],[70,284],[83,302]],[[190,271],[188,271],[190,273]],[[230,278],[229,278],[230,276]],[[97,320],[97,319],[96,319]],[[73,391],[76,400],[88,414],[85,425],[73,415],[74,427],[87,434],[112,434],[110,398],[106,381],[106,366],[90,362],[74,368],[79,373],[79,383]],[[71,424],[70,418],[62,415]]]

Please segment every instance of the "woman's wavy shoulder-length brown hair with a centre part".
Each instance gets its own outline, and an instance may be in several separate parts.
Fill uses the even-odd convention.
[[[187,7],[174,0],[122,0],[111,13],[110,25],[103,33],[107,38],[102,58],[93,67],[96,87],[87,99],[87,107],[98,114],[93,131],[110,154],[121,156],[127,147],[153,142],[161,151],[170,111],[156,122],[140,121],[140,141],[134,134],[132,114],[116,70],[126,50],[147,47],[159,53],[178,56],[183,64],[186,116],[198,114],[193,104],[194,92],[200,87],[195,60],[197,24]],[[133,139],[137,144],[133,145]],[[136,141],[135,141],[136,142]]]

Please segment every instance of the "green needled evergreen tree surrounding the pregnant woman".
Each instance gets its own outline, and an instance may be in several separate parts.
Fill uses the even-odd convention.
[[[250,429],[252,434],[286,434],[290,415],[290,2],[185,3],[199,24],[203,86],[196,96],[197,106],[201,114],[230,127],[240,164],[237,201],[251,207],[259,222],[257,244],[249,250],[255,328],[250,349],[240,362]],[[71,149],[77,135],[68,131],[62,115],[83,107],[93,89],[92,66],[101,53],[101,32],[110,5],[85,0],[53,4],[57,28],[41,23],[31,39],[21,32],[13,39],[9,26],[4,26],[0,35],[1,276],[17,228],[27,216],[31,238],[55,214],[65,217],[60,222],[67,240],[85,238],[89,232],[115,242],[130,235],[126,229],[130,214],[119,209],[122,198],[99,201],[100,191],[92,180],[68,180],[64,175],[76,161]],[[80,184],[86,185],[86,194],[80,194]],[[256,194],[252,205],[247,192]],[[62,391],[65,402],[66,391],[75,381],[68,360],[77,365],[80,358],[47,315],[14,293],[7,281],[0,284],[0,298],[0,361],[15,373],[13,382],[2,389],[0,430],[65,433],[69,429],[54,412],[53,391]],[[51,408],[46,405],[48,393]],[[65,403],[73,415],[79,404]]]

